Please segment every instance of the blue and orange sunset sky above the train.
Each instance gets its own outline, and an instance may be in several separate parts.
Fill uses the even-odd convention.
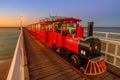
[[[120,0],[0,0],[0,26],[24,26],[51,16],[75,17],[87,26],[120,27]]]

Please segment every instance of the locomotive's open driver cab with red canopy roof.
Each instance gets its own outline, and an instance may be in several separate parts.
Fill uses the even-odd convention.
[[[75,34],[76,26],[80,19],[76,18],[61,18],[57,19],[55,22],[55,31],[63,35]]]

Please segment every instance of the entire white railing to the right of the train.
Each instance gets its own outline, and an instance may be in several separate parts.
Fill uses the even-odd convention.
[[[87,31],[85,31],[85,36]],[[120,33],[94,31],[94,37],[101,40],[101,52],[105,54],[105,61],[120,68]]]

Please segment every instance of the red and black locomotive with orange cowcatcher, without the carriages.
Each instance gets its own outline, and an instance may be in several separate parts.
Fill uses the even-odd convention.
[[[68,61],[76,68],[80,69],[85,75],[98,75],[106,71],[104,63],[104,56],[101,54],[101,41],[93,37],[93,22],[88,22],[87,37],[83,36],[83,27],[77,24],[81,21],[75,18],[57,19],[56,22],[63,24],[59,25],[61,28],[56,37],[59,38],[60,34],[62,39],[59,38],[58,43],[55,45],[55,50],[66,52]],[[73,25],[75,31],[70,29]],[[64,27],[66,30],[64,30]],[[54,36],[55,37],[55,36]],[[60,44],[61,43],[61,44]],[[64,51],[65,50],[65,51]]]

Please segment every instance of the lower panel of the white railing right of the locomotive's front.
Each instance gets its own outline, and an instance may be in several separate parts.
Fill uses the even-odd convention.
[[[104,43],[105,49],[101,50],[105,54],[105,61],[111,65],[114,65],[120,68],[120,42],[113,40],[101,39],[101,42]],[[111,46],[112,45],[112,46]],[[102,45],[103,46],[103,45]]]

